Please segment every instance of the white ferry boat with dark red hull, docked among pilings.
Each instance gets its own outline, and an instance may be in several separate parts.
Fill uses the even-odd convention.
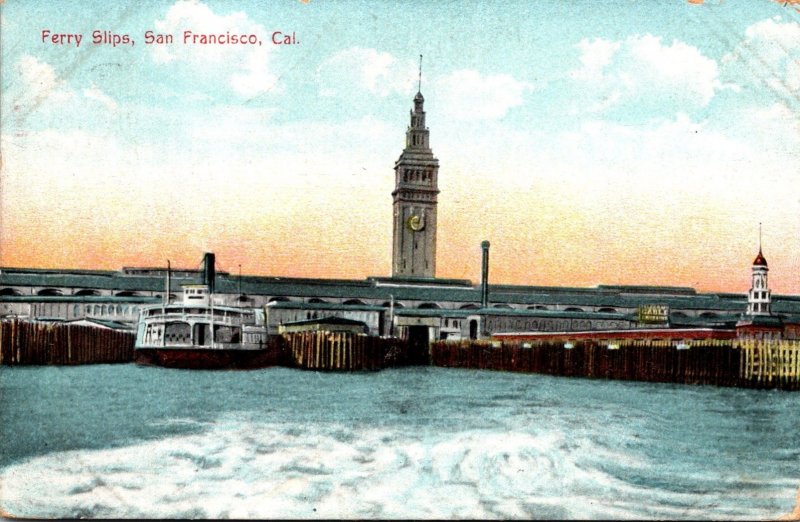
[[[137,364],[195,369],[272,366],[263,311],[214,303],[208,285],[184,285],[183,300],[142,308],[136,328]]]

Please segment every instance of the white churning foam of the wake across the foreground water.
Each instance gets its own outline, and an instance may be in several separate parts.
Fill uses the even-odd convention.
[[[0,470],[3,507],[36,518],[780,515],[737,505],[732,493],[677,493],[628,483],[620,478],[624,473],[612,475],[597,463],[658,473],[657,463],[553,429],[403,434],[344,425],[272,425],[234,415],[206,428],[11,465]],[[794,497],[790,479],[775,481],[787,498]]]

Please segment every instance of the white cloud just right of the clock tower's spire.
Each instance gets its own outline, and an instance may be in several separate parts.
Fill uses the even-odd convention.
[[[462,69],[436,80],[434,88],[443,114],[460,120],[495,120],[522,105],[532,86],[509,74],[483,76]]]

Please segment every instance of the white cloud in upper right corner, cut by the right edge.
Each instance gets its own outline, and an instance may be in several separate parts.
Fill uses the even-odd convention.
[[[784,98],[800,92],[800,23],[780,17],[756,22],[722,58],[729,81],[764,85]]]

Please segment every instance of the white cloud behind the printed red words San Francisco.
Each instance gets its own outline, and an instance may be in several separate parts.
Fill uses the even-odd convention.
[[[273,89],[277,77],[269,67],[270,34],[264,26],[252,21],[245,13],[237,11],[218,15],[207,5],[196,0],[179,0],[169,8],[164,18],[155,22],[160,33],[172,34],[178,45],[153,45],[153,60],[157,63],[180,62],[192,72],[205,78],[209,65],[215,76],[227,79],[234,92],[252,97]],[[184,31],[193,34],[256,35],[256,45],[184,45]]]

